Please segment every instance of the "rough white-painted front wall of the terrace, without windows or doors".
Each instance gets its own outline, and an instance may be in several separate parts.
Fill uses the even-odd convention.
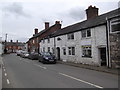
[[[40,50],[43,52],[48,51],[54,53],[54,48],[60,48],[60,59],[68,62],[90,64],[90,65],[101,65],[101,59],[99,56],[99,48],[106,47],[106,26],[102,25],[99,27],[90,28],[91,36],[82,38],[81,31],[74,32],[74,39],[68,40],[67,34],[50,38],[50,43],[45,39],[45,42],[40,42]],[[58,40],[60,38],[61,40]],[[55,41],[54,41],[55,40]],[[82,46],[91,46],[91,57],[82,57]],[[69,55],[68,47],[75,47],[75,55]],[[56,50],[55,49],[55,50]],[[64,55],[63,49],[66,49],[66,55]],[[57,56],[57,50],[55,52]],[[57,56],[58,57],[58,56]]]

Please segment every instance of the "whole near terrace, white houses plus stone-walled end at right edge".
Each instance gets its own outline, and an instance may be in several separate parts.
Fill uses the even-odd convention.
[[[52,52],[67,62],[119,67],[120,8],[102,15],[98,15],[98,10],[89,6],[87,20],[41,38],[40,52]]]

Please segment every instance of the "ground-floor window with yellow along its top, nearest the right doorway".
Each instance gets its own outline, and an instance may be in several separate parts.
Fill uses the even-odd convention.
[[[82,57],[91,57],[91,46],[82,46]]]

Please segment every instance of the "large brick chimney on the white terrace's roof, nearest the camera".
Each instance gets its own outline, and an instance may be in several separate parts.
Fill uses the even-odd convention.
[[[86,14],[87,14],[87,20],[94,18],[96,16],[98,16],[98,8],[96,8],[95,6],[93,7],[92,5],[90,5],[88,7],[88,9],[86,9]]]

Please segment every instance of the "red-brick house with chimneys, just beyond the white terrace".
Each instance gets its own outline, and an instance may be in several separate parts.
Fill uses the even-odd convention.
[[[45,29],[38,33],[38,29],[34,29],[33,37],[28,41],[28,52],[38,52],[39,53],[39,40],[46,37],[48,34],[53,33],[61,29],[60,21],[56,21],[54,25],[49,27],[49,22],[45,22]]]

